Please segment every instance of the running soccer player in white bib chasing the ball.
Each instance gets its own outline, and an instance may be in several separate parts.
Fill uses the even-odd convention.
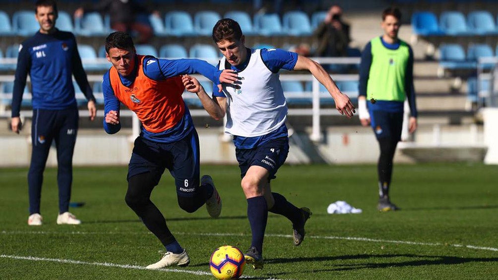
[[[327,88],[341,114],[351,118],[355,107],[315,61],[281,49],[247,48],[241,27],[233,19],[219,20],[213,28],[213,39],[224,56],[219,69],[232,69],[238,74],[238,82],[223,84],[223,92],[213,93],[212,102],[205,104],[217,108],[212,114],[214,118],[227,115],[225,132],[234,136],[252,232],[251,246],[245,256],[254,269],[259,269],[263,267],[262,245],[268,211],[292,222],[295,246],[303,241],[304,225],[311,215],[308,208],[297,208],[270,189],[270,180],[275,178],[289,151],[285,126],[287,103],[278,71],[308,70]],[[183,79],[184,84],[190,83],[188,91],[209,97],[195,78]]]

